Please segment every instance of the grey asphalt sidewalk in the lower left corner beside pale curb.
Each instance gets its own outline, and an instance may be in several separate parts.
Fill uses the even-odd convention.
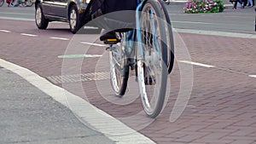
[[[0,143],[112,144],[67,107],[0,67]]]

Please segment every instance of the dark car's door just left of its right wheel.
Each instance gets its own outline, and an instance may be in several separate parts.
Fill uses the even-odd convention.
[[[53,0],[52,12],[55,16],[67,19],[67,0]]]

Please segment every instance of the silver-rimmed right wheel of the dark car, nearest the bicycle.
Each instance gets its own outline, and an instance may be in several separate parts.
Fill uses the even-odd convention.
[[[70,31],[72,33],[78,32],[80,28],[80,19],[79,19],[79,10],[76,5],[73,5],[71,9],[69,9],[68,18],[69,18]]]

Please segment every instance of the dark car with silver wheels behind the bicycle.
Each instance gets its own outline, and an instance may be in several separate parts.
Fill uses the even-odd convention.
[[[70,31],[76,33],[86,22],[90,0],[36,0],[35,20],[39,29],[46,29],[51,21],[69,23]],[[88,10],[86,10],[88,11]]]

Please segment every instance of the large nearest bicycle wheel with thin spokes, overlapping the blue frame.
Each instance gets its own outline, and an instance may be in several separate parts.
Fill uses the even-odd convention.
[[[137,37],[142,40],[138,44],[143,43],[144,57],[143,60],[137,60],[138,84],[144,112],[150,118],[156,118],[160,114],[166,97],[167,49],[164,41],[160,40],[166,37],[166,31],[162,29],[165,26],[162,20],[164,16],[159,1],[148,0],[143,5],[141,30],[137,33]],[[154,21],[148,20],[149,17]],[[142,54],[138,50],[137,57],[140,57]]]

